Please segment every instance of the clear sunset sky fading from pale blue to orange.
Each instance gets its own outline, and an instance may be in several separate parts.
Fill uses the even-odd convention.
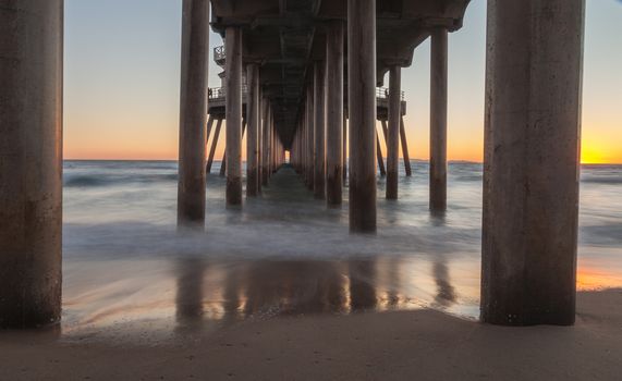
[[[65,0],[65,159],[178,158],[181,3]],[[582,161],[622,163],[622,1],[586,7]],[[220,45],[211,33],[210,46]],[[472,0],[449,37],[450,160],[483,158],[485,48],[486,0]],[[415,159],[429,155],[429,61],[426,41],[402,70]],[[211,87],[219,71],[210,56]]]

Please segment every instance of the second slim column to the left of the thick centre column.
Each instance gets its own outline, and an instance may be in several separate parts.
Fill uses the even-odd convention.
[[[325,63],[315,65],[315,174],[314,196],[326,198],[326,98],[325,98]]]

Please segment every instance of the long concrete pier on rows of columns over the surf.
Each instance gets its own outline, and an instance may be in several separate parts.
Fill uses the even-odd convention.
[[[224,126],[229,208],[289,162],[327,212],[343,208],[347,181],[350,232],[373,236],[377,177],[399,204],[399,176],[413,174],[401,74],[428,39],[429,209],[451,213],[448,46],[468,3],[183,0],[180,230],[209,234],[206,179]],[[475,95],[486,99],[486,323],[574,323],[584,17],[584,0],[488,0],[486,94]],[[63,1],[0,0],[0,328],[42,327],[61,318]],[[221,88],[207,84],[209,28],[224,38]]]

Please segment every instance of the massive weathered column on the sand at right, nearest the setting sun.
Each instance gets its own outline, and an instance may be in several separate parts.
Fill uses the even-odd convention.
[[[584,0],[488,2],[485,322],[574,322],[584,16]]]

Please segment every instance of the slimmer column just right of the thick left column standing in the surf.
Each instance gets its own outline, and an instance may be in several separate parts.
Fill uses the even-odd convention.
[[[227,119],[227,205],[242,205],[242,29],[228,26],[224,47]]]

